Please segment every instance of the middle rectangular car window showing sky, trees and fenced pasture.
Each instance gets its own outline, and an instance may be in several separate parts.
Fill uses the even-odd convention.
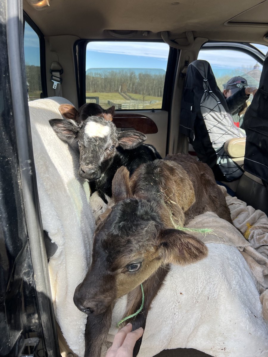
[[[86,102],[104,109],[161,109],[169,46],[94,41],[86,47]]]

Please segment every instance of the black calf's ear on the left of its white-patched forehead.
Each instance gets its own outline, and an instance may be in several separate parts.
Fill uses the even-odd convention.
[[[74,144],[79,130],[77,125],[66,119],[50,119],[49,124],[61,140]]]

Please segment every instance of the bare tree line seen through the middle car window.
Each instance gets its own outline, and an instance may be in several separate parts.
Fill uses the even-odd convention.
[[[86,92],[123,92],[162,97],[165,75],[134,71],[94,72],[86,75]]]

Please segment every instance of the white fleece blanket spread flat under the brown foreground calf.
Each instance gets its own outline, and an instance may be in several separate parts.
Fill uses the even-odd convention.
[[[215,357],[268,356],[268,326],[247,263],[235,247],[219,243],[207,247],[208,257],[202,261],[171,266],[149,311],[139,356],[179,347]],[[102,356],[125,306],[125,297],[116,303],[110,343]]]

